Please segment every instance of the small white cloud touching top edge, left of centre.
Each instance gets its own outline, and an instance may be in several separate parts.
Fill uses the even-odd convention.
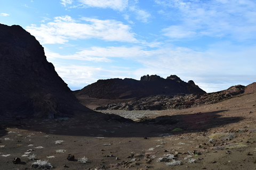
[[[89,7],[112,8],[118,11],[123,11],[128,5],[128,0],[79,0],[79,2]]]

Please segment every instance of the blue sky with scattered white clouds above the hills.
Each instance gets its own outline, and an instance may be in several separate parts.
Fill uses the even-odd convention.
[[[255,0],[0,0],[71,90],[177,75],[206,92],[256,81]]]

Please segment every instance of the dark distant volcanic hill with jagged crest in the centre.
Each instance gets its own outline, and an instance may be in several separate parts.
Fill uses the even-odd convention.
[[[127,99],[152,95],[204,93],[205,91],[196,86],[192,80],[184,82],[176,75],[171,75],[166,79],[158,75],[144,75],[140,81],[134,79],[98,80],[74,92],[76,97],[83,96],[99,99]]]

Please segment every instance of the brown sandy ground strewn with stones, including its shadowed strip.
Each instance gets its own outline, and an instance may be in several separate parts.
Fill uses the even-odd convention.
[[[147,124],[90,122],[86,114],[1,122],[0,169],[36,169],[37,160],[53,169],[256,169],[255,105],[256,93],[175,111],[111,111]]]

